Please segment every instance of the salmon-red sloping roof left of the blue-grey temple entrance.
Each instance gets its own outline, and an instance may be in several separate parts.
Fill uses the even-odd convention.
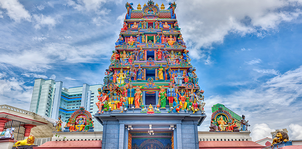
[[[48,141],[34,149],[102,149],[102,141]]]

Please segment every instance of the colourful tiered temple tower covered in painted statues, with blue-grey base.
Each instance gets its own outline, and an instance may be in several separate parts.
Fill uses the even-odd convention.
[[[175,2],[127,14],[99,88],[98,113],[105,149],[199,148],[205,119],[198,85],[174,10]],[[146,105],[146,106],[145,106]]]

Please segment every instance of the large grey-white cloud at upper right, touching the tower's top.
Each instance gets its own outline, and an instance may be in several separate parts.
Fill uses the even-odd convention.
[[[287,0],[177,0],[175,13],[192,58],[208,63],[213,43],[223,43],[228,34],[253,34],[263,38],[282,22],[301,15],[302,4]],[[284,9],[289,8],[289,9]],[[291,9],[292,8],[292,9]],[[201,49],[202,48],[202,49]]]

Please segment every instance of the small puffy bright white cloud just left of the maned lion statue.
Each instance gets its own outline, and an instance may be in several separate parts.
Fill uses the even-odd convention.
[[[261,140],[263,138],[269,137],[271,138],[271,132],[275,131],[271,129],[268,124],[260,123],[255,124],[252,128],[250,137],[252,137],[253,141]]]

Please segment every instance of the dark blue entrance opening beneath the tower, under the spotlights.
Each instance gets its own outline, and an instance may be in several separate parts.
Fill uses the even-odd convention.
[[[131,149],[172,149],[172,132],[131,132]],[[129,143],[129,142],[128,142]]]

